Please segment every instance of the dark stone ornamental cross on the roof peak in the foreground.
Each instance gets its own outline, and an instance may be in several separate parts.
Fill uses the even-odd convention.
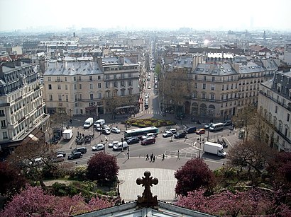
[[[150,177],[149,171],[146,171],[144,175],[145,177],[136,180],[136,184],[142,184],[142,186],[145,187],[143,196],[138,196],[138,206],[154,208],[155,206],[158,206],[158,199],[157,196],[153,197],[152,192],[150,192],[150,187],[152,187],[153,184],[158,184],[158,179]]]

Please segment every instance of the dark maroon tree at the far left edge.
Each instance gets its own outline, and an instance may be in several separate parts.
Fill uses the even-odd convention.
[[[7,162],[0,163],[0,194],[11,196],[26,185],[26,178],[14,165]]]

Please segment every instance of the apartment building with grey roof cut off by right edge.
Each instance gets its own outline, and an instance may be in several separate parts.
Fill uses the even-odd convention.
[[[268,124],[265,141],[278,151],[291,151],[291,71],[277,71],[260,83],[258,112]]]

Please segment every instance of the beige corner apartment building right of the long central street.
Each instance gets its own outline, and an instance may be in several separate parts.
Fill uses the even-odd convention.
[[[226,120],[248,104],[257,105],[259,83],[268,81],[278,66],[272,59],[256,61],[233,63],[230,54],[214,53],[178,57],[172,69],[185,67],[194,86],[191,97],[185,101],[185,113],[202,118],[203,122]]]

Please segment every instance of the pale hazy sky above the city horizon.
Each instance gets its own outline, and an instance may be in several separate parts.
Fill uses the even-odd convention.
[[[0,31],[48,26],[291,30],[291,1],[0,0]]]

